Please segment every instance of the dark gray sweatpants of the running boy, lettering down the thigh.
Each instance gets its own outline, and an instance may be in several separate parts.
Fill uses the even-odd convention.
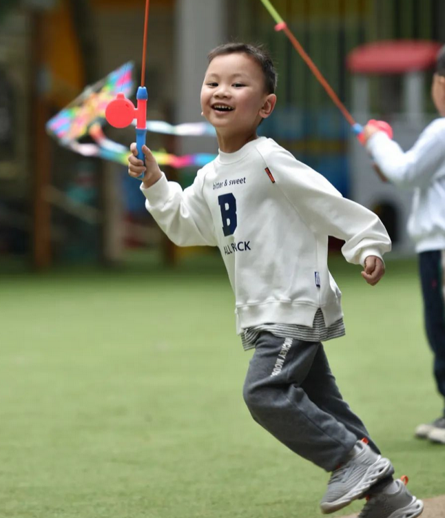
[[[343,400],[321,342],[261,333],[244,399],[253,419],[293,452],[327,471],[369,434]],[[377,453],[377,446],[369,439]]]

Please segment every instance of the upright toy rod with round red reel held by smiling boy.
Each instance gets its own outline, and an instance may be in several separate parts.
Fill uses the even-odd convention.
[[[145,87],[145,61],[147,52],[147,32],[148,32],[148,12],[149,0],[145,0],[145,21],[144,21],[144,39],[142,52],[142,72],[141,86],[138,87],[136,99],[137,107],[130,99],[126,99],[123,93],[117,94],[116,99],[107,105],[105,109],[105,117],[107,121],[114,127],[127,127],[136,118],[136,147],[138,148],[138,158],[144,161],[142,147],[145,144],[147,136],[147,88]],[[143,174],[138,176],[143,178]]]

